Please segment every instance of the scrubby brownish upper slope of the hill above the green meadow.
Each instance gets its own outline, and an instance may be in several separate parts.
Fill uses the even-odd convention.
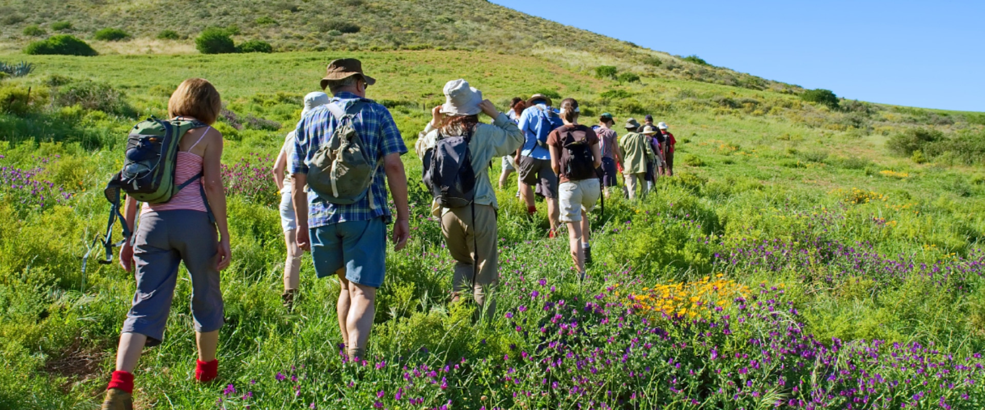
[[[577,71],[612,65],[641,76],[752,89],[796,86],[695,63],[584,29],[563,26],[485,0],[230,0],[0,2],[0,48],[20,49],[45,34],[94,42],[99,29],[124,29],[126,43],[95,41],[103,53],[194,52],[202,29],[230,28],[238,41],[263,39],[277,51],[484,50],[540,56]],[[65,23],[71,25],[65,28]],[[56,25],[61,23],[61,25]],[[37,26],[45,34],[27,35]],[[165,29],[178,39],[156,39]]]

